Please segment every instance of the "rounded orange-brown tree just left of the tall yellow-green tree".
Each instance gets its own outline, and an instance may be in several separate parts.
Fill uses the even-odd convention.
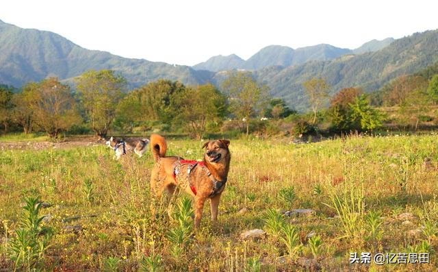
[[[30,102],[36,125],[50,137],[57,137],[81,121],[70,88],[55,77],[40,82],[34,88]]]

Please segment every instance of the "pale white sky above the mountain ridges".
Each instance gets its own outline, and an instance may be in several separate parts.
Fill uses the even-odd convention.
[[[267,45],[354,49],[438,28],[438,1],[5,0],[0,20],[49,30],[86,49],[193,65],[247,59]]]

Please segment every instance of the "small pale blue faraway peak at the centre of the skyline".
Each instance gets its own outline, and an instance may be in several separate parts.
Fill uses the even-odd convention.
[[[240,69],[244,66],[245,61],[239,58],[237,55],[216,55],[209,58],[206,62],[201,62],[192,66],[195,70],[208,70],[208,71],[226,71],[233,69]]]

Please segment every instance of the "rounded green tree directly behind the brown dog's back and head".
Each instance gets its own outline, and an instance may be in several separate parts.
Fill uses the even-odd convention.
[[[178,109],[176,120],[185,123],[188,132],[203,138],[208,123],[220,121],[227,112],[227,97],[212,84],[186,88],[172,96],[172,105]]]

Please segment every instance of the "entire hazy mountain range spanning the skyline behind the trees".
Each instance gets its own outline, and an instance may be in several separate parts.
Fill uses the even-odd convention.
[[[384,41],[389,45],[385,47]],[[438,30],[384,41],[367,42],[355,51],[331,45],[296,50],[273,45],[247,61],[237,55],[218,56],[192,69],[83,49],[52,32],[21,29],[0,21],[0,84],[21,87],[49,76],[71,81],[90,69],[113,69],[127,79],[131,88],[162,78],[188,85],[211,82],[220,87],[229,70],[248,69],[270,87],[274,97],[285,99],[296,110],[307,110],[302,83],[312,77],[326,78],[333,86],[332,93],[351,86],[372,91],[399,75],[438,62]],[[377,51],[357,53],[361,50]]]

